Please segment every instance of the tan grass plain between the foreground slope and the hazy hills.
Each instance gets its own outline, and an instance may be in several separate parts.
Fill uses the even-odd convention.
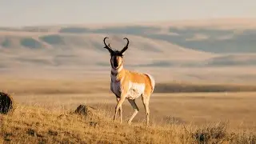
[[[98,103],[104,102],[106,103],[104,109],[113,111],[116,100],[114,94],[110,92],[110,83],[107,80],[105,82],[86,80],[87,82],[64,79],[10,79],[9,81],[2,79],[0,88],[11,94],[15,102],[21,104],[37,103],[40,106],[45,106],[54,102],[57,106],[62,105],[75,109],[81,103],[98,106]],[[176,89],[174,89],[174,85],[177,86]],[[202,92],[203,90],[198,89],[194,89],[193,93],[186,91],[193,86],[202,86],[205,91],[208,91]],[[158,83],[150,98],[152,120],[167,123],[175,121],[178,124],[192,122],[197,126],[208,122],[228,120],[232,128],[256,130],[254,92],[229,92],[227,90],[213,93],[207,86],[223,89],[221,85],[214,84]],[[226,86],[232,87],[232,85]],[[233,86],[237,86],[238,91],[240,90],[238,85]],[[172,90],[179,91],[174,93]],[[197,90],[199,92],[195,92]],[[140,111],[134,121],[145,120],[145,110],[141,99],[139,98],[136,102]],[[123,103],[123,110],[125,118],[128,118],[133,112],[127,101]]]

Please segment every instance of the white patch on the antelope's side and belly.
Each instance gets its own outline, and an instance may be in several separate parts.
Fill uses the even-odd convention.
[[[126,98],[135,99],[144,93],[145,84],[129,82],[129,89]]]

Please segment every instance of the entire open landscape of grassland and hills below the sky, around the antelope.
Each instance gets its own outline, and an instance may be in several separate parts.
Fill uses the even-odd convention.
[[[243,21],[2,28],[0,90],[16,108],[0,115],[0,142],[254,143],[256,23]],[[132,126],[127,101],[125,121],[112,122],[116,99],[105,36],[118,50],[129,38],[125,68],[155,78],[150,127],[140,98]],[[99,112],[69,114],[80,104]]]

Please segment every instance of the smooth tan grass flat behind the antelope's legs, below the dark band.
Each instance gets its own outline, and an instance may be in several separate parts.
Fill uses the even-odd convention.
[[[53,103],[66,109],[75,109],[86,103],[101,107],[114,114],[116,100],[113,94],[17,94],[15,100],[21,104],[47,106]],[[153,94],[150,99],[150,121],[154,123],[193,124],[200,126],[208,122],[229,121],[230,127],[256,131],[255,93],[176,93]],[[139,98],[139,113],[134,122],[145,121],[145,110]],[[56,106],[53,106],[55,108]],[[128,101],[122,106],[123,116],[129,118],[133,109]]]

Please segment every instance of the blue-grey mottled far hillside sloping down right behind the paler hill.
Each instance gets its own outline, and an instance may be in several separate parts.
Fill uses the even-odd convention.
[[[214,53],[256,52],[256,29],[250,30],[218,30],[212,28],[177,28],[162,30],[157,26],[125,26],[96,30],[88,28],[68,27],[60,33],[82,34],[134,34],[146,38],[165,40],[193,50]]]

